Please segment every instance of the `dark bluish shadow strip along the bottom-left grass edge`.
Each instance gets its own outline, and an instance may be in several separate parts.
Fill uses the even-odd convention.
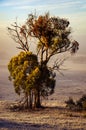
[[[0,129],[3,130],[57,130],[57,126],[49,124],[32,124],[32,123],[17,123],[15,121],[8,121],[0,119]]]

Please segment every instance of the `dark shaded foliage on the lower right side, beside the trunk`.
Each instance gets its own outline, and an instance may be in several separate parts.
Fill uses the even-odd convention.
[[[41,95],[43,97],[49,96],[54,93],[55,77],[53,77],[53,72],[47,66],[40,68],[40,71]]]

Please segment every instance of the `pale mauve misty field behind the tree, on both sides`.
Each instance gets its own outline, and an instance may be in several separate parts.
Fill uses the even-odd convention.
[[[73,68],[72,68],[73,69]],[[57,72],[55,93],[49,101],[64,103],[69,97],[75,100],[86,94],[86,70],[61,70]],[[12,82],[8,80],[9,72],[6,65],[0,65],[0,100],[16,100]]]

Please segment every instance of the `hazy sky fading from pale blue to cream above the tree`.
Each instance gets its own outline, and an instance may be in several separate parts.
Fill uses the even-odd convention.
[[[16,17],[19,23],[24,22],[35,10],[38,15],[49,11],[52,16],[70,21],[72,38],[80,43],[78,55],[80,58],[84,55],[85,61],[86,0],[0,0],[0,60],[6,60],[17,52],[15,43],[7,34],[7,27],[15,22]]]

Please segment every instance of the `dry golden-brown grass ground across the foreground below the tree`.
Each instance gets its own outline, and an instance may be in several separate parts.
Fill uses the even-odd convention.
[[[13,112],[11,102],[0,101],[0,130],[86,130],[85,112],[74,112],[63,106],[35,111]]]

